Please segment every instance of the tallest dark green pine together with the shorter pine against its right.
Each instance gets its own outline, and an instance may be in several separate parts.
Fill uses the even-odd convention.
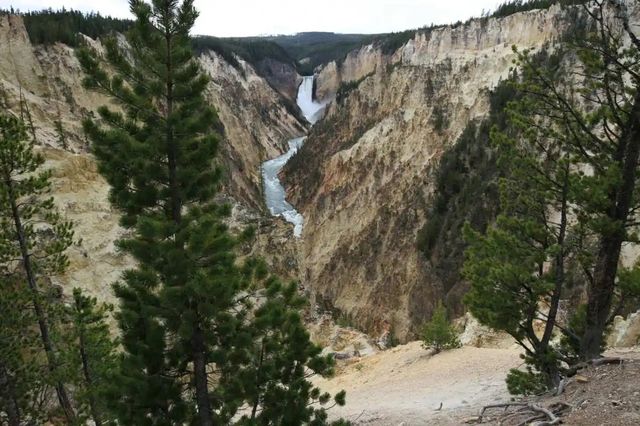
[[[130,5],[128,52],[105,41],[113,77],[95,52],[79,52],[86,86],[123,111],[102,107],[84,127],[132,231],[119,246],[139,265],[115,287],[124,353],[110,404],[123,424],[229,424],[245,404],[255,407],[249,424],[323,424],[324,410],[308,405],[328,397],[305,369],[328,374],[331,362],[309,341],[289,287],[265,288],[261,262],[238,264],[229,207],[214,202],[219,125],[191,52],[193,1]],[[277,368],[259,369],[256,383],[256,365]]]

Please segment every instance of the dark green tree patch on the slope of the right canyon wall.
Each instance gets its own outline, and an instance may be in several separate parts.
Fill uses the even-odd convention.
[[[506,128],[505,107],[514,97],[513,86],[508,81],[500,82],[489,95],[489,116],[481,122],[468,123],[453,147],[442,155],[434,172],[435,191],[416,244],[430,259],[445,292],[461,281],[466,247],[462,235],[464,223],[483,230],[498,214],[500,171],[490,131],[493,126]]]

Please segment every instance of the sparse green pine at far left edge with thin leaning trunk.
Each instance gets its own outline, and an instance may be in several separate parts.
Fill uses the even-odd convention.
[[[14,408],[35,419],[33,407],[22,404],[41,398],[41,392],[45,399],[51,397],[44,385],[53,386],[71,421],[74,413],[64,386],[70,369],[61,362],[56,345],[63,333],[63,312],[48,283],[67,267],[66,250],[72,244],[73,230],[49,196],[51,172],[41,170],[44,158],[34,153],[34,144],[35,141],[27,142],[19,119],[0,115],[0,283],[2,303],[15,315],[3,325],[7,352],[0,354],[4,358],[0,359],[4,364],[0,367],[9,375],[9,383],[15,383],[10,390],[15,393],[11,398],[17,401]],[[34,346],[32,334],[36,327],[38,347]],[[16,362],[22,357],[21,362],[33,365],[19,368]],[[46,369],[41,368],[43,365]]]

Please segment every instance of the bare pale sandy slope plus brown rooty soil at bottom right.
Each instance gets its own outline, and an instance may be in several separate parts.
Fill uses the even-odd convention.
[[[625,361],[581,370],[562,395],[525,402],[547,408],[568,404],[559,416],[565,425],[640,425],[640,349],[607,355]],[[354,425],[463,425],[476,423],[486,405],[514,401],[504,379],[521,363],[516,347],[463,347],[432,355],[412,342],[341,362],[335,377],[316,382],[332,393],[347,391],[347,405],[330,413]],[[482,424],[529,424],[523,422],[531,413],[513,416],[514,411],[488,411]]]

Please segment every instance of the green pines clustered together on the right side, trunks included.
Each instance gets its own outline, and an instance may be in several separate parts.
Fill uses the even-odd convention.
[[[622,33],[630,31],[625,11],[613,27],[602,8],[581,9],[593,25],[580,22],[576,32],[582,38],[554,55],[518,52],[521,77],[514,87],[521,95],[507,109],[508,131],[492,132],[504,170],[502,212],[484,235],[468,226],[465,231],[470,246],[464,275],[471,282],[465,303],[483,324],[506,331],[525,349],[530,374],[512,376],[516,390],[527,380],[535,384],[538,376],[553,387],[560,361],[598,356],[616,312],[616,289],[622,303],[623,293],[634,293],[635,285],[626,284],[635,281],[633,274],[618,270],[618,263],[623,241],[635,241],[628,229],[634,226],[629,209],[637,203],[633,176],[640,138],[631,142],[620,135],[640,134],[629,115],[640,102],[640,42],[624,50]],[[582,67],[577,75],[563,61],[576,57]],[[573,79],[584,85],[579,96]],[[568,273],[574,263],[588,283],[588,305],[570,311],[569,324],[556,330],[560,300],[575,279]],[[534,331],[536,321],[544,324],[541,336]],[[563,338],[556,347],[551,339],[558,331]]]

